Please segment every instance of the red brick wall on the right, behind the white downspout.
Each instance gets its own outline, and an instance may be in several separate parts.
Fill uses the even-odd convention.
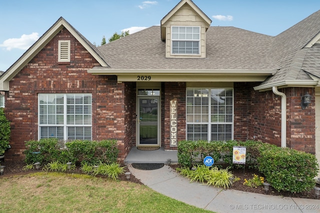
[[[234,139],[254,139],[281,146],[281,97],[269,91],[254,91],[256,83],[234,83]],[[289,87],[286,94],[286,146],[315,153],[314,89]],[[311,104],[301,109],[308,91]]]

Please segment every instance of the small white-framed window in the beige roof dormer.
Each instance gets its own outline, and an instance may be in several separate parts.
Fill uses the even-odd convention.
[[[172,26],[172,54],[200,54],[199,26]]]

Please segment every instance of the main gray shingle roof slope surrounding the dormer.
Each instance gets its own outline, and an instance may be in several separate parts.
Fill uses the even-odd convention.
[[[99,46],[110,69],[276,70],[268,57],[273,37],[235,27],[206,31],[206,58],[166,58],[160,26]]]

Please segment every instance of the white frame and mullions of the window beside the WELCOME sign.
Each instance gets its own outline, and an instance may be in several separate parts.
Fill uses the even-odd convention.
[[[208,96],[208,121],[207,122],[188,122],[187,121],[187,92],[185,93],[185,103],[186,103],[186,107],[185,107],[185,117],[186,117],[186,122],[185,122],[185,138],[187,139],[187,134],[188,134],[188,131],[187,131],[187,125],[188,124],[206,124],[207,125],[207,140],[208,141],[211,141],[211,125],[215,125],[215,124],[231,124],[231,139],[233,140],[233,133],[234,133],[234,89],[232,87],[225,87],[225,88],[222,88],[222,87],[187,87],[186,88],[186,91],[187,89],[208,89],[208,94],[211,95],[211,89],[232,89],[232,121],[231,122],[213,122],[211,121],[211,110],[210,110],[210,107],[211,107],[211,98],[210,98],[210,95]]]

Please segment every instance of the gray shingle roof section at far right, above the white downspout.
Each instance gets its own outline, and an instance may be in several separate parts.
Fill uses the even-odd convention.
[[[317,80],[313,80],[305,71],[309,70],[310,73],[320,76],[320,51],[318,44],[314,44],[320,38],[319,33],[320,10],[275,36],[270,58],[281,68],[255,89],[272,86],[315,86]]]

